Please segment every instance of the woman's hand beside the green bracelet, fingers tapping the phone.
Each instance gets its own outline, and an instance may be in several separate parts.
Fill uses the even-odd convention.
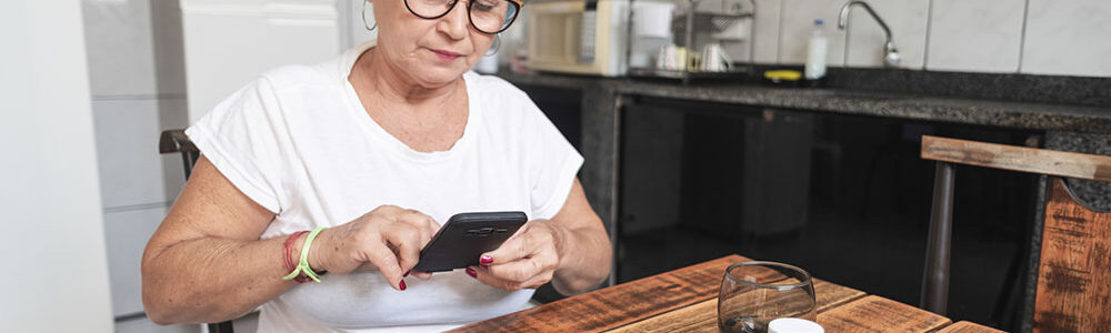
[[[326,229],[312,241],[309,263],[314,271],[347,274],[378,270],[397,290],[420,260],[424,248],[440,230],[431,216],[396,205],[382,205],[354,221]],[[428,279],[431,273],[414,272]]]

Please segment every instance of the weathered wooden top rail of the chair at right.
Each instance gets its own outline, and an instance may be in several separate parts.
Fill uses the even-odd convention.
[[[1111,157],[922,137],[922,159],[1111,182]]]

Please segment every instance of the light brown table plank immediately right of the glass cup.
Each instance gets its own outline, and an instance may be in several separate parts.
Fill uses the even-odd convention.
[[[944,327],[950,321],[925,310],[870,295],[819,313],[818,323],[828,333],[925,333]]]

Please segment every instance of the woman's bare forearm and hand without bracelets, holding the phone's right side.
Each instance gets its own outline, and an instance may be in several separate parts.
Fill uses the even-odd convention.
[[[549,281],[564,295],[597,287],[610,274],[613,249],[582,185],[575,179],[563,208],[551,220],[529,221],[521,231],[467,270],[504,290],[539,287]]]

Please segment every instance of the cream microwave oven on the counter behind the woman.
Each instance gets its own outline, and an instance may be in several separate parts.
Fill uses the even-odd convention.
[[[624,75],[629,0],[532,2],[527,20],[532,70]]]

